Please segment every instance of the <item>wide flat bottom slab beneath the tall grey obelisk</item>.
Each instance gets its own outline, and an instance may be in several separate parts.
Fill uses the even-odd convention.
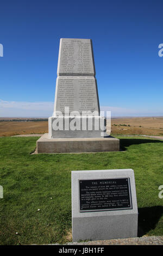
[[[45,133],[36,142],[37,153],[86,153],[119,151],[120,140],[105,138],[49,138]]]

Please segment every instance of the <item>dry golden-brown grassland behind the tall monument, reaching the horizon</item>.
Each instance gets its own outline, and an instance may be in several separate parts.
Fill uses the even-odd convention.
[[[23,118],[22,118],[23,119]],[[25,119],[25,118],[24,118]],[[14,136],[48,132],[48,121],[2,121],[0,136]],[[8,121],[10,120],[10,121]],[[17,118],[18,120],[18,118]],[[111,119],[111,135],[163,135],[163,117]]]

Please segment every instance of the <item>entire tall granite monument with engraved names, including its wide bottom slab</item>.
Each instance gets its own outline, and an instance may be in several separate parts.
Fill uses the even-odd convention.
[[[106,134],[100,116],[95,64],[90,39],[60,39],[54,112],[48,134],[37,141],[37,153],[81,153],[120,150]]]

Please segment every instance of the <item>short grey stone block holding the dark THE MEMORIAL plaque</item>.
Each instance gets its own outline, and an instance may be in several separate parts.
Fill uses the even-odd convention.
[[[80,170],[71,174],[73,241],[137,236],[132,169]]]

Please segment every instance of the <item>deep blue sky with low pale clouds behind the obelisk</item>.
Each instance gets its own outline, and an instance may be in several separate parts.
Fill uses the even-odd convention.
[[[163,1],[3,0],[0,8],[0,116],[52,115],[60,38],[92,39],[102,109],[163,115]]]

